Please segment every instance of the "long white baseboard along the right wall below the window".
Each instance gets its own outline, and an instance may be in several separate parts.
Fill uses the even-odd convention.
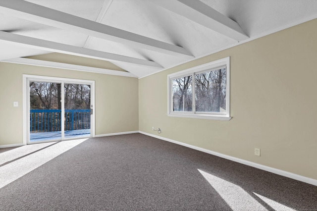
[[[268,171],[268,172],[271,172],[271,173],[274,173],[274,174],[278,174],[278,175],[281,175],[281,176],[285,176],[285,177],[288,177],[288,178],[291,178],[291,179],[295,179],[295,180],[298,180],[298,181],[301,181],[301,182],[306,182],[308,184],[312,184],[312,185],[317,186],[317,180],[316,179],[312,179],[312,178],[309,178],[309,177],[301,176],[301,175],[294,174],[294,173],[291,173],[291,172],[288,172],[288,171],[283,171],[283,170],[280,170],[280,169],[277,169],[277,168],[272,168],[272,167],[269,167],[269,166],[266,166],[266,165],[262,165],[262,164],[259,164],[259,163],[255,163],[255,162],[251,162],[251,161],[248,161],[248,160],[235,158],[235,157],[232,157],[232,156],[227,156],[227,155],[224,155],[224,154],[221,154],[221,153],[217,153],[217,152],[214,152],[214,151],[211,151],[211,150],[206,150],[204,148],[200,148],[200,147],[196,147],[196,146],[193,146],[193,145],[185,144],[185,143],[182,143],[182,142],[174,141],[174,140],[167,139],[167,138],[164,138],[164,137],[160,137],[160,136],[157,136],[157,135],[153,135],[153,134],[150,134],[150,133],[145,133],[145,132],[142,132],[142,131],[139,131],[139,133],[142,133],[142,134],[147,135],[147,136],[158,138],[158,139],[161,139],[161,140],[164,140],[164,141],[168,141],[168,142],[171,142],[171,143],[174,143],[174,144],[182,145],[184,147],[192,148],[194,150],[198,150],[198,151],[201,151],[201,152],[204,152],[204,153],[208,153],[208,154],[220,157],[220,158],[229,159],[229,160],[232,160],[232,161],[235,161],[235,162],[239,162],[239,163],[242,163],[242,164],[245,164],[245,165],[249,165],[249,166],[252,166],[252,167],[255,167],[255,168],[262,169],[264,171]]]

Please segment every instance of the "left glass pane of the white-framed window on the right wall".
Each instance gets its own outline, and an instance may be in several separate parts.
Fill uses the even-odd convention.
[[[192,111],[192,76],[172,80],[173,111]]]

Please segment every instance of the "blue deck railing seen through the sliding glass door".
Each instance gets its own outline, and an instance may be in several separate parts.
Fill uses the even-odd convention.
[[[65,109],[64,130],[90,129],[90,109]],[[30,132],[61,131],[60,109],[31,109]]]

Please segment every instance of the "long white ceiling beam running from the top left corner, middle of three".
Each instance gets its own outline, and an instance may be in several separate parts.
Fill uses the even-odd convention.
[[[170,55],[193,57],[182,47],[117,29],[25,0],[0,0],[1,10],[21,19]]]

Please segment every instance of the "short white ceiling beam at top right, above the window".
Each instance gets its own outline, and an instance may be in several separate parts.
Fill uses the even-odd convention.
[[[200,0],[151,0],[151,2],[233,40],[243,41],[249,38],[237,22]]]

